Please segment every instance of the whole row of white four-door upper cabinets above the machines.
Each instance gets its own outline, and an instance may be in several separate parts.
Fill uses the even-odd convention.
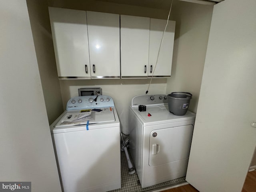
[[[54,7],[49,15],[59,79],[152,76],[166,20]],[[154,78],[171,75],[174,30],[169,21]]]

